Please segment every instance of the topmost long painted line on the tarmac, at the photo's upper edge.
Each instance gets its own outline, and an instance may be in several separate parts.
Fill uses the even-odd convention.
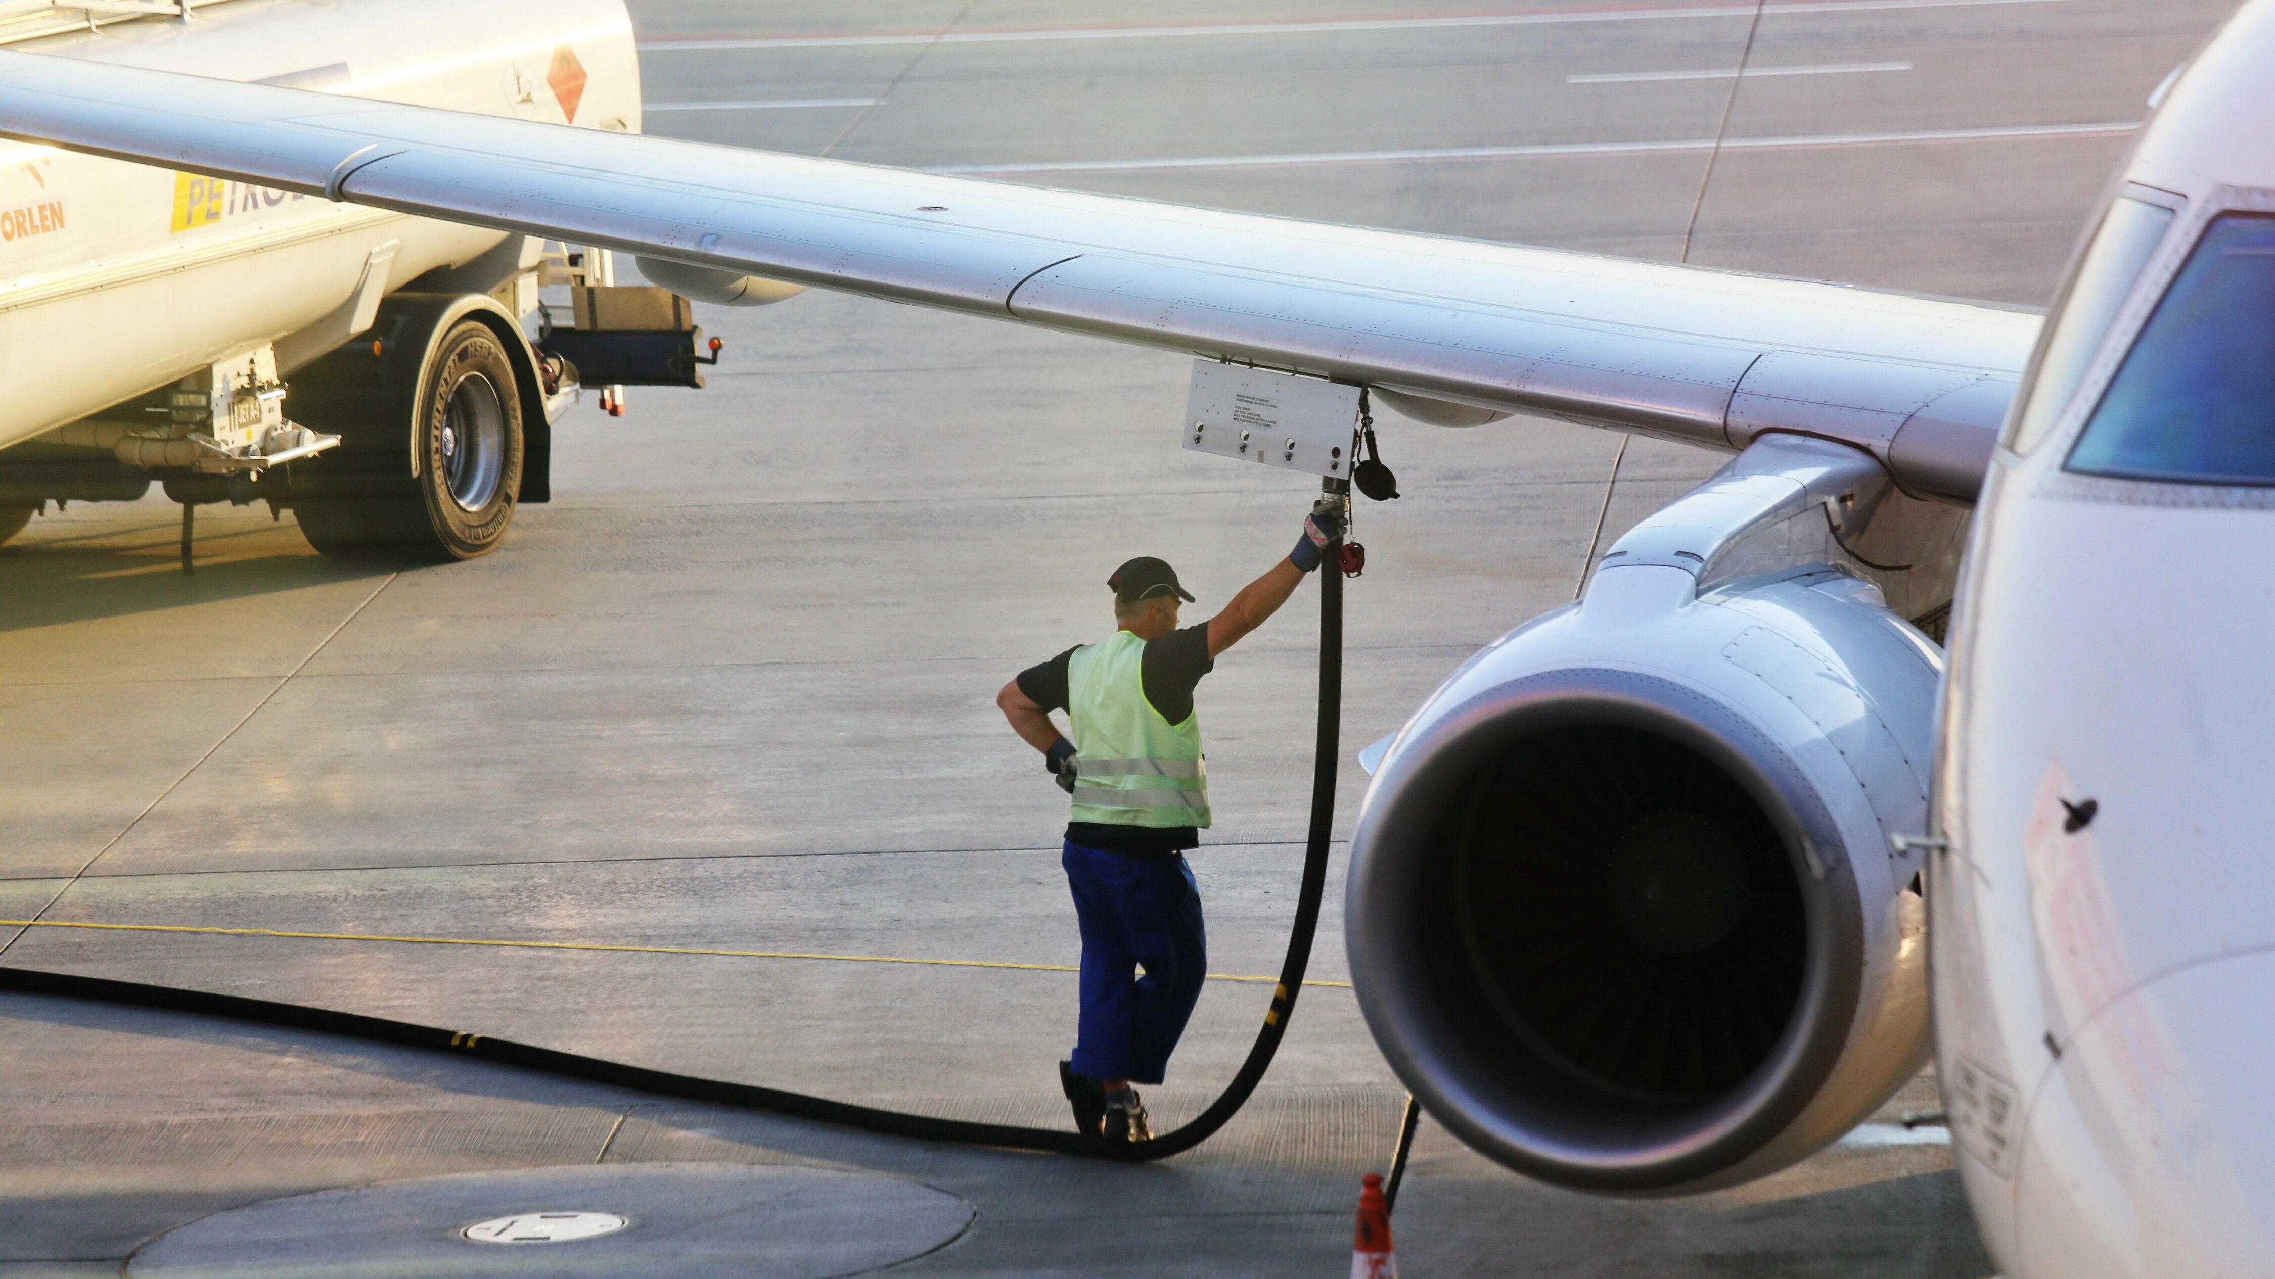
[[[2061,0],[1800,0],[1763,5],[1763,16],[1856,14],[1875,9],[1956,9],[1988,5],[2059,5]],[[1684,5],[1665,9],[1565,9],[1531,14],[1474,14],[1461,18],[1320,18],[1308,23],[1203,23],[1190,27],[1053,27],[1028,32],[894,32],[876,36],[717,36],[687,41],[639,41],[642,52],[687,52],[708,48],[860,48],[860,46],[987,46],[1024,41],[1151,41],[1197,36],[1299,36],[1333,32],[1429,32],[1461,27],[1538,27],[1565,23],[1658,23],[1668,18],[1752,18],[1752,5]]]

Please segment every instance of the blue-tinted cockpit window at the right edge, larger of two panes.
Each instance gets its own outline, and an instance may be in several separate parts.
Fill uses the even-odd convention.
[[[2275,485],[2275,218],[2211,223],[2118,366],[2068,469]]]

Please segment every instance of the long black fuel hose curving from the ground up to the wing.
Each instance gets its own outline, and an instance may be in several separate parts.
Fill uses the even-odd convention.
[[[1329,480],[1326,489],[1342,496],[1349,492],[1349,485],[1342,480]],[[498,1065],[514,1065],[521,1070],[539,1070],[564,1079],[630,1088],[655,1097],[680,1097],[687,1101],[712,1101],[744,1111],[767,1111],[774,1115],[844,1124],[849,1129],[864,1129],[896,1138],[1040,1149],[1126,1163],[1169,1158],[1172,1154],[1183,1154],[1206,1142],[1235,1113],[1240,1113],[1240,1106],[1244,1106],[1256,1092],[1256,1083],[1263,1081],[1265,1070],[1272,1067],[1272,1056],[1279,1051],[1281,1038],[1288,1033],[1288,1020],[1294,1015],[1294,999],[1304,990],[1304,969],[1310,965],[1310,942],[1320,926],[1320,899],[1326,892],[1329,833],[1335,822],[1335,756],[1340,753],[1342,726],[1342,574],[1338,571],[1338,548],[1340,542],[1326,546],[1326,553],[1322,555],[1324,569],[1320,571],[1320,728],[1313,746],[1310,833],[1304,844],[1304,883],[1297,892],[1294,926],[1288,933],[1288,958],[1281,963],[1279,988],[1272,992],[1272,1006],[1265,1010],[1263,1026],[1256,1029],[1256,1042],[1249,1045],[1249,1056],[1240,1063],[1233,1081],[1224,1086],[1224,1092],[1219,1092],[1206,1111],[1158,1138],[1142,1142],[1108,1142],[1097,1136],[1065,1129],[978,1124],[971,1120],[910,1115],[903,1111],[810,1097],[805,1092],[789,1092],[787,1088],[764,1088],[758,1083],[733,1083],[726,1079],[701,1079],[694,1074],[673,1074],[669,1070],[648,1070],[644,1065],[521,1045],[475,1031],[446,1031],[441,1026],[421,1026],[389,1017],[364,1017],[359,1013],[337,1013],[330,1008],[312,1008],[307,1004],[278,1004],[271,999],[246,999],[241,995],[214,995],[207,990],[182,990],[175,985],[146,985],[141,981],[114,981],[107,976],[0,967],[0,990],[132,1004],[141,1008],[164,1008],[171,1013],[232,1017],[266,1026],[291,1026],[298,1031],[321,1031],[328,1035],[348,1035],[384,1045],[435,1049],[475,1056]]]

